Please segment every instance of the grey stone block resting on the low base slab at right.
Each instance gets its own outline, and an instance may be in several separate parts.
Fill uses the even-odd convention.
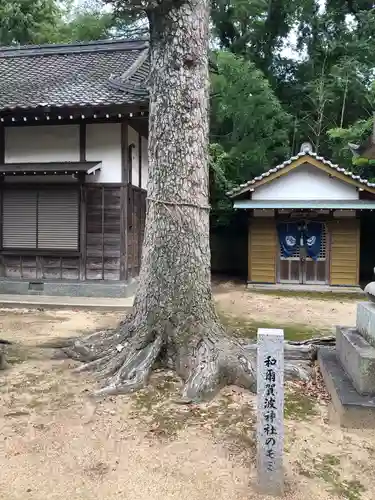
[[[359,394],[375,394],[375,348],[355,328],[338,326],[336,353]]]

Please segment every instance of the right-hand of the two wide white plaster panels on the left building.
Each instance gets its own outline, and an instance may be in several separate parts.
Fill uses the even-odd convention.
[[[87,182],[121,182],[121,124],[86,125],[86,160],[100,161],[101,169]]]

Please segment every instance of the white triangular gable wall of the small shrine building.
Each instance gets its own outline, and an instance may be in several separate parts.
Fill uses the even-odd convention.
[[[356,200],[351,186],[309,164],[303,164],[252,193],[253,200]]]

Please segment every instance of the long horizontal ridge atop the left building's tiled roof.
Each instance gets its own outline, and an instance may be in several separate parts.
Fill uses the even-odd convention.
[[[83,52],[111,52],[115,50],[144,50],[148,48],[147,38],[110,39],[89,42],[0,46],[0,58],[28,57],[36,55],[75,54]]]

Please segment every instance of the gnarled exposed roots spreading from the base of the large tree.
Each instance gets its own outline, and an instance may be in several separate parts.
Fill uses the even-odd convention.
[[[102,388],[95,395],[134,392],[148,383],[155,365],[173,368],[185,381],[183,401],[212,398],[225,385],[237,385],[251,391],[256,388],[256,351],[228,337],[215,322],[203,328],[195,325],[194,334],[160,328],[135,326],[133,320],[118,330],[95,332],[77,339],[64,352],[83,361],[78,371],[94,372]],[[306,354],[306,347],[302,349]],[[311,368],[306,360],[285,363],[287,378],[308,380]]]

